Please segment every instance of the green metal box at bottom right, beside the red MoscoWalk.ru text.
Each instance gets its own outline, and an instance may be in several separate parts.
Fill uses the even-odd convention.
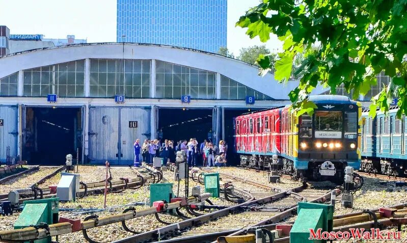
[[[311,229],[315,232],[331,232],[334,222],[334,206],[320,203],[298,203],[298,217],[290,231],[290,243],[321,242],[327,240],[310,239]]]

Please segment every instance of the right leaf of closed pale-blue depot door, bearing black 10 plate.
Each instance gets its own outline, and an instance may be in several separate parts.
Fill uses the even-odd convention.
[[[143,108],[121,108],[121,141],[122,141],[122,154],[123,157],[120,161],[121,164],[133,164],[134,152],[133,143],[136,139],[140,139],[140,145],[147,139],[144,135],[150,131],[150,110]],[[129,121],[138,121],[137,128],[129,128]]]

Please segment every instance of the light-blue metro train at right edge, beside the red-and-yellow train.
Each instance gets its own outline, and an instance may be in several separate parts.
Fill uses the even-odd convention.
[[[387,115],[376,111],[373,119],[363,111],[361,171],[407,176],[407,119],[398,119],[397,111],[397,106]]]

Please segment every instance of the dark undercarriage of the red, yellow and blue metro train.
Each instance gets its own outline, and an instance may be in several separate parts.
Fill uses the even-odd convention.
[[[330,163],[334,166],[335,172],[333,175],[321,175],[320,169],[322,161],[310,161],[308,163],[307,170],[297,170],[294,168],[292,160],[278,157],[277,160],[273,160],[269,155],[240,155],[240,166],[258,170],[277,171],[278,173],[290,175],[294,180],[301,181],[332,181],[336,183],[343,182],[343,170],[344,165],[340,162]]]

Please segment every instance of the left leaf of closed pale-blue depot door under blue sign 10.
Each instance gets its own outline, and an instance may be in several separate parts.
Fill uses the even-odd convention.
[[[118,160],[119,108],[89,107],[89,158],[92,163]]]

